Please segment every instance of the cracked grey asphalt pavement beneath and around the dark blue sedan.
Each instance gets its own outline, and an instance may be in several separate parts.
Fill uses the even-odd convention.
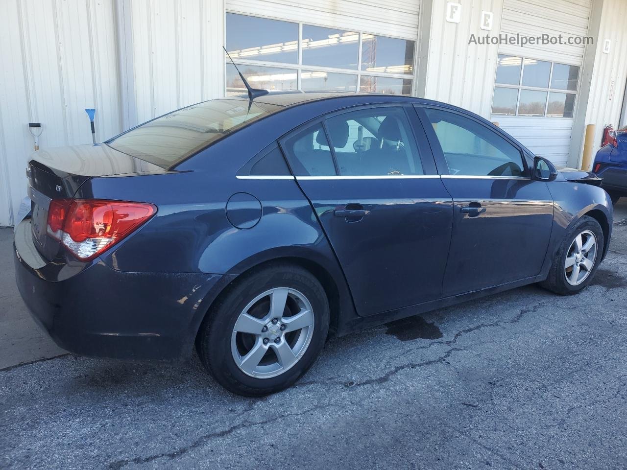
[[[264,399],[196,357],[65,354],[28,318],[0,229],[0,468],[627,468],[624,201],[581,294],[527,286],[336,338]]]

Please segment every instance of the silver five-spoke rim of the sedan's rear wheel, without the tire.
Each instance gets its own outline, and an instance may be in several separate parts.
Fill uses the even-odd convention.
[[[242,372],[277,377],[303,357],[314,335],[314,311],[297,290],[261,293],[241,311],[231,334],[231,353]]]

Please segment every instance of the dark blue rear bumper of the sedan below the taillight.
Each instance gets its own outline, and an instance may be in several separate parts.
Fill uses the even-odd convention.
[[[87,264],[71,259],[46,263],[38,258],[29,233],[30,221],[25,220],[14,241],[19,293],[51,338],[80,355],[184,360],[204,313],[231,277],[127,273],[98,259]]]

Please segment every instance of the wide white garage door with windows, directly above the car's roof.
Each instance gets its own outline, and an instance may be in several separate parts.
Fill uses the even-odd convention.
[[[270,90],[411,95],[419,0],[227,0],[226,48]],[[226,94],[245,91],[226,65]]]

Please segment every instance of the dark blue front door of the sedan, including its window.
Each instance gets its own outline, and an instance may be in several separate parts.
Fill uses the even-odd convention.
[[[546,182],[530,179],[520,147],[477,118],[417,110],[454,203],[443,294],[537,276],[553,223]]]

